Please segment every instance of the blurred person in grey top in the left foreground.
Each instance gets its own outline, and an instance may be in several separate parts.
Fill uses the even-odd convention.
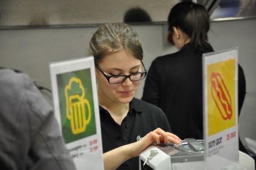
[[[53,109],[27,74],[0,68],[1,169],[75,169]]]

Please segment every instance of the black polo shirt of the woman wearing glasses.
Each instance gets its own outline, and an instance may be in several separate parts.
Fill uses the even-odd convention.
[[[158,127],[171,132],[167,118],[159,107],[136,98],[130,102],[130,110],[121,125],[101,106],[100,122],[103,153],[136,142]],[[139,158],[127,160],[118,169],[139,169]]]

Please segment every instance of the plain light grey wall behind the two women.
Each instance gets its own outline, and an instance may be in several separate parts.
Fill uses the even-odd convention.
[[[176,51],[166,40],[166,25],[134,25],[144,48],[144,63]],[[96,27],[0,30],[1,66],[27,72],[40,86],[51,89],[49,63],[87,55],[89,40]],[[247,94],[239,120],[242,141],[256,140],[256,19],[211,22],[210,43],[216,51],[238,46],[239,63],[246,75]],[[136,97],[141,98],[142,82]],[[51,94],[45,92],[51,102]]]

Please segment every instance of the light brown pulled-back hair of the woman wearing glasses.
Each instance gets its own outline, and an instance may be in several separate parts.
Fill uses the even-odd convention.
[[[107,55],[122,49],[130,52],[138,60],[143,58],[139,36],[132,27],[124,23],[101,25],[89,43],[89,54],[94,56],[95,65]]]

